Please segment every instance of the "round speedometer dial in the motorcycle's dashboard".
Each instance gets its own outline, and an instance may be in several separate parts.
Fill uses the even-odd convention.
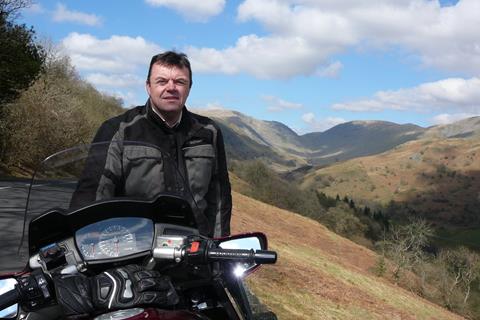
[[[106,256],[116,258],[135,253],[136,240],[124,226],[110,225],[101,232],[98,247]]]

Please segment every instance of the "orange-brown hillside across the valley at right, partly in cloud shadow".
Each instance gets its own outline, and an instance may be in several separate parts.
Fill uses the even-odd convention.
[[[480,117],[429,128],[381,154],[318,168],[302,187],[348,196],[438,225],[480,226]]]

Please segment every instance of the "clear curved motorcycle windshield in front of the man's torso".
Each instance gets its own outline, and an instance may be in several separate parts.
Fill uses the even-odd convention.
[[[74,214],[78,209],[98,202],[114,199],[150,201],[163,194],[183,198],[195,213],[198,207],[185,171],[168,152],[136,141],[81,145],[47,157],[35,170],[28,185],[23,230],[17,230],[17,246],[15,248],[11,243],[8,250],[0,252],[0,272],[18,272],[27,265],[31,254],[30,223],[52,209]],[[192,219],[197,220],[198,215],[194,215]],[[201,225],[195,221],[197,224]],[[53,227],[62,228],[62,225]]]

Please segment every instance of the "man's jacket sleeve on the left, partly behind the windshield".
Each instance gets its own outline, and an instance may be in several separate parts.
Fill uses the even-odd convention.
[[[98,200],[99,190],[104,193],[102,198],[114,195],[115,178],[109,170],[106,170],[106,162],[107,157],[111,154],[109,150],[116,131],[116,128],[108,121],[104,122],[98,129],[88,151],[85,167],[72,195],[70,208],[78,208]],[[108,192],[107,190],[111,191]],[[111,194],[107,195],[107,193]]]

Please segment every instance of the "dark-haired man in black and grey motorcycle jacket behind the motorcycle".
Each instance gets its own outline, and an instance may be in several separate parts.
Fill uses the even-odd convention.
[[[200,232],[228,235],[232,201],[223,137],[212,120],[185,107],[192,87],[187,56],[173,51],[153,56],[145,87],[144,106],[107,120],[98,130],[93,142],[111,143],[100,165],[96,159],[89,166],[72,206],[115,196],[186,193],[187,185]]]

